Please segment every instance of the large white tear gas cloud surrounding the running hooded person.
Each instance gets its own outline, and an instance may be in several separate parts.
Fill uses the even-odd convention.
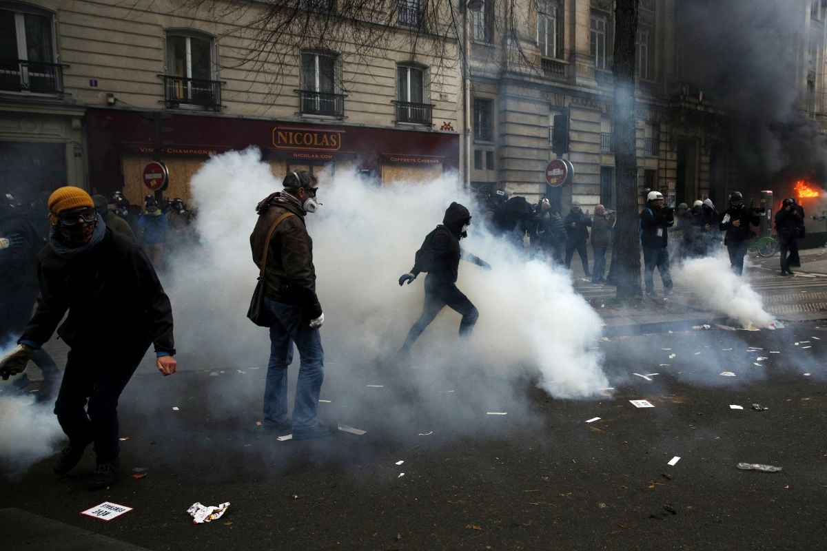
[[[249,235],[256,203],[280,190],[281,178],[251,148],[209,159],[191,188],[202,243],[193,251],[194,263],[174,263],[165,285],[177,347],[208,351],[233,366],[264,367],[266,331],[245,317],[257,275]],[[306,221],[325,313],[325,359],[336,365],[337,377],[364,385],[376,365],[394,361],[422,311],[425,276],[402,288],[397,279],[457,201],[474,216],[463,248],[493,269],[461,262],[457,286],[480,310],[480,320],[469,340],[457,340],[459,316],[445,308],[414,345],[415,363],[427,367],[421,373],[429,377],[463,365],[507,380],[528,376],[555,397],[589,397],[608,386],[599,352],[589,349],[600,337],[600,317],[574,292],[568,273],[526,263],[488,235],[455,176],[382,188],[337,171],[331,182],[320,183],[318,198],[323,207]]]

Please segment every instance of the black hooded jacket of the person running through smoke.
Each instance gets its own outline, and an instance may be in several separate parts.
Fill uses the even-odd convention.
[[[459,271],[461,250],[460,238],[462,226],[471,221],[471,213],[458,202],[452,202],[445,211],[442,224],[437,226],[423,241],[423,249],[428,255],[428,277],[437,278],[447,283],[456,283]],[[411,273],[418,276],[425,271],[423,261],[414,263]]]

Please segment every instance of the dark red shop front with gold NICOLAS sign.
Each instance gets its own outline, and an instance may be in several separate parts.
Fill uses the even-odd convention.
[[[166,165],[165,197],[189,202],[189,180],[210,155],[254,145],[276,178],[308,170],[321,181],[338,171],[370,175],[382,185],[426,181],[457,170],[456,132],[408,131],[364,126],[151,114],[90,109],[86,117],[89,188],[111,197],[122,191],[141,204],[151,191],[143,169],[152,160]],[[155,154],[154,144],[160,144]]]

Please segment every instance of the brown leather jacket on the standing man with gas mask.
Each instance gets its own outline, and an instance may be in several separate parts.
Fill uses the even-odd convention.
[[[265,239],[273,222],[292,212],[276,226],[270,237],[265,268],[265,295],[282,304],[296,304],[305,309],[305,317],[322,315],[322,306],[316,296],[316,269],[313,268],[313,240],[304,226],[304,211],[291,202],[285,202],[275,193],[258,207],[259,219],[250,235],[253,261],[261,269]]]

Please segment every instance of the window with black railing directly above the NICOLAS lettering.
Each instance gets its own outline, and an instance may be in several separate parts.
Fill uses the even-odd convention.
[[[344,95],[337,93],[337,55],[302,52],[303,115],[344,116]]]

